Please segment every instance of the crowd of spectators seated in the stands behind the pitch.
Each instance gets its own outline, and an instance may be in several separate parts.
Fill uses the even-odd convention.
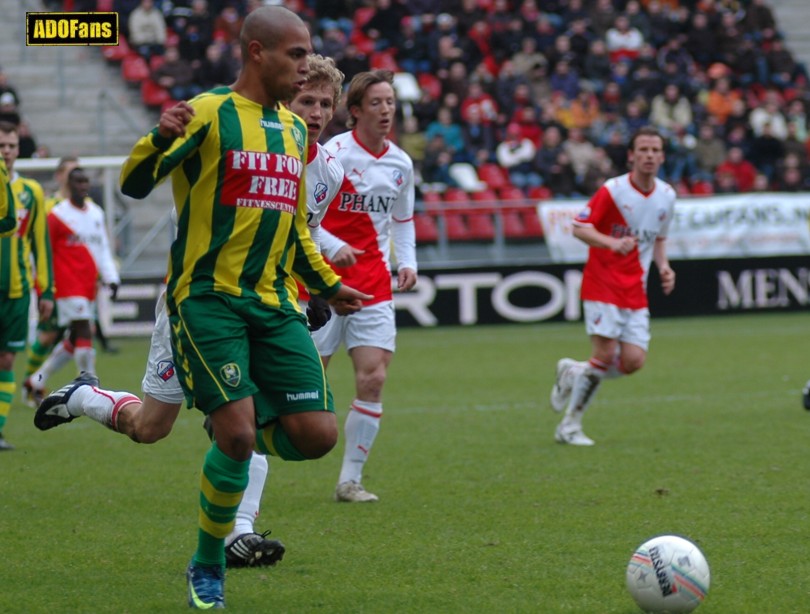
[[[95,0],[74,0],[93,2]],[[680,193],[810,190],[810,86],[767,0],[113,0],[175,98],[231,83],[255,6],[284,4],[347,83],[413,75],[397,139],[420,185],[499,165],[531,194],[590,194],[645,124]],[[343,116],[345,118],[345,116]],[[343,130],[341,115],[331,127]],[[327,131],[325,138],[330,136]]]

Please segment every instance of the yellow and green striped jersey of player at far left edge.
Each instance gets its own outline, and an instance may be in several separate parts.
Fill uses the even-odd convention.
[[[42,298],[53,300],[53,258],[45,193],[39,183],[16,173],[11,179],[11,192],[17,232],[0,239],[0,295],[20,298],[36,287]]]

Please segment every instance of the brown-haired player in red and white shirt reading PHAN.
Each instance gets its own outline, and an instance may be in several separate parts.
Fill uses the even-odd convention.
[[[346,106],[351,130],[326,143],[343,165],[346,180],[323,219],[321,249],[346,283],[374,299],[358,313],[333,317],[313,338],[324,364],[345,343],[355,374],[356,396],[346,418],[335,499],[368,502],[377,496],[362,486],[363,466],[380,428],[382,390],[395,349],[392,240],[397,289],[410,290],[417,278],[414,171],[408,154],[388,140],[396,111],[390,71],[356,75]]]

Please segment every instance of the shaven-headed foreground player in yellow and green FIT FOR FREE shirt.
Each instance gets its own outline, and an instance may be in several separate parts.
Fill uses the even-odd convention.
[[[369,299],[340,283],[306,224],[307,127],[281,101],[306,82],[309,31],[292,11],[245,19],[236,83],[165,111],[122,169],[144,198],[171,177],[177,238],[167,307],[189,405],[210,416],[189,605],[224,605],[224,538],[233,527],[254,445],[288,460],[323,456],[337,422],[326,375],[290,270],[348,310]],[[256,424],[262,432],[257,437]]]

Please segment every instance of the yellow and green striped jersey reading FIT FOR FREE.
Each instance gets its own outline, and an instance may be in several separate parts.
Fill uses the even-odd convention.
[[[177,238],[169,254],[169,307],[221,292],[298,310],[291,272],[316,294],[337,292],[340,278],[306,224],[301,118],[227,87],[190,104],[195,113],[182,137],[167,139],[155,128],[121,171],[122,191],[135,198],[172,178]]]

